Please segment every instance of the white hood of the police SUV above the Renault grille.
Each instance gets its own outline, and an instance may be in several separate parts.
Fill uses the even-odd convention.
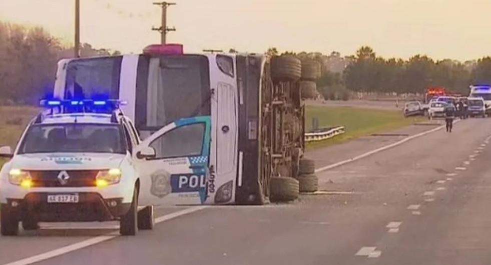
[[[105,169],[119,167],[119,153],[30,153],[12,159],[12,168],[25,170]]]

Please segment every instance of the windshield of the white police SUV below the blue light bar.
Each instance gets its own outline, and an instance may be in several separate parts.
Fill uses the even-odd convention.
[[[19,148],[22,153],[126,153],[119,124],[58,123],[32,125]]]

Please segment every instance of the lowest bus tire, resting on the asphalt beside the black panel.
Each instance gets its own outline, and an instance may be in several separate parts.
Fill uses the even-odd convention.
[[[297,179],[293,177],[274,176],[271,177],[270,200],[272,202],[286,202],[298,198],[300,186]]]

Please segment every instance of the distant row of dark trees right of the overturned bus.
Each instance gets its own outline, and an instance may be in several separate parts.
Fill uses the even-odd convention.
[[[270,54],[293,54],[300,59],[319,61],[322,77],[317,87],[324,97],[334,99],[335,92],[378,92],[378,93],[424,93],[426,87],[443,86],[447,89],[468,94],[469,85],[491,84],[491,57],[460,62],[452,59],[433,60],[416,54],[408,60],[377,56],[369,46],[360,47],[354,55],[341,57],[333,51],[329,55],[319,52],[278,52],[269,48]],[[333,61],[348,60],[344,69],[331,71]],[[345,96],[343,96],[345,97]]]

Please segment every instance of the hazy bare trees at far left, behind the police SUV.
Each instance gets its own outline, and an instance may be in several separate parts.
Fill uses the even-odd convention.
[[[81,56],[116,55],[117,50],[82,43]],[[0,21],[0,103],[36,104],[53,91],[57,61],[73,57],[74,48],[62,44],[42,27]]]

